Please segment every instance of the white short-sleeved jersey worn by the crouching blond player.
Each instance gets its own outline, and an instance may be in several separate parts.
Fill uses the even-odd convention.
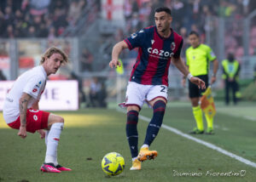
[[[47,74],[43,65],[34,67],[17,78],[4,100],[3,118],[5,122],[14,122],[20,116],[19,100],[22,93],[32,96],[27,108],[32,107],[35,101],[40,100],[41,94],[44,92],[46,79]]]

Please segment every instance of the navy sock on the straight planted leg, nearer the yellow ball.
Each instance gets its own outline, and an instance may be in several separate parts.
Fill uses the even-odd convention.
[[[138,121],[138,112],[129,111],[127,112],[127,122],[126,122],[126,137],[131,150],[131,157],[137,157],[137,121]]]

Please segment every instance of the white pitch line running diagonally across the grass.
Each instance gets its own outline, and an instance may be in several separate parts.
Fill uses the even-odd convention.
[[[118,109],[118,111],[126,112],[126,111],[122,111],[122,110],[119,110],[119,109]],[[151,120],[150,118],[144,117],[144,116],[139,116],[139,118],[140,118],[141,120],[145,121],[145,122],[150,122],[150,120]],[[183,136],[183,137],[186,138],[186,139],[193,140],[193,141],[195,141],[196,143],[199,143],[199,144],[201,144],[201,145],[205,145],[205,146],[207,146],[208,148],[210,148],[210,149],[212,149],[212,150],[218,151],[218,152],[220,152],[220,153],[222,153],[222,154],[224,154],[224,155],[226,155],[226,156],[230,156],[231,158],[235,158],[237,161],[240,161],[240,162],[242,162],[242,163],[245,163],[245,164],[247,164],[248,166],[252,166],[253,168],[256,168],[256,163],[251,162],[251,161],[249,161],[249,160],[247,160],[247,159],[245,159],[245,158],[243,158],[243,157],[241,157],[241,156],[237,156],[236,154],[233,154],[233,153],[231,153],[230,151],[226,151],[226,150],[224,150],[224,149],[222,149],[222,148],[220,148],[220,147],[218,147],[218,146],[216,146],[216,145],[213,145],[213,144],[208,143],[208,142],[206,142],[206,141],[204,141],[204,140],[201,140],[201,139],[196,139],[195,137],[192,137],[192,136],[190,136],[189,134],[184,134],[183,132],[177,130],[176,128],[169,127],[169,126],[167,126],[167,125],[165,125],[165,124],[162,124],[162,128],[166,128],[167,130],[173,132],[174,134]]]

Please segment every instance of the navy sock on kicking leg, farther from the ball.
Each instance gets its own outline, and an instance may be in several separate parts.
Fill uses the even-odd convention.
[[[153,117],[148,124],[147,134],[144,144],[151,145],[154,138],[158,134],[163,122],[163,118],[166,111],[166,103],[163,100],[158,100],[153,105]]]

